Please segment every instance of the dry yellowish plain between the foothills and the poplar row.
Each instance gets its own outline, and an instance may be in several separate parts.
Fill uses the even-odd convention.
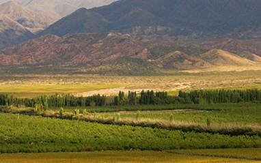
[[[21,96],[44,93],[75,93],[75,95],[115,95],[121,91],[173,91],[215,88],[260,88],[260,71],[243,72],[169,72],[169,76],[95,76],[89,74],[3,74],[0,93]],[[28,86],[33,85],[33,86]],[[83,86],[85,85],[85,86]],[[12,87],[8,87],[12,86]],[[13,87],[16,86],[16,87]],[[19,86],[19,87],[18,87]],[[23,87],[22,87],[23,86]],[[251,86],[251,87],[250,87]],[[97,91],[98,90],[98,91]]]

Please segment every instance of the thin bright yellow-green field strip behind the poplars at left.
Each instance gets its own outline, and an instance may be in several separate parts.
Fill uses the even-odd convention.
[[[21,98],[33,98],[36,95],[47,95],[53,93],[78,93],[84,91],[94,91],[99,89],[111,89],[126,87],[128,84],[108,84],[108,85],[23,85],[23,86],[1,86],[0,93],[17,95]]]

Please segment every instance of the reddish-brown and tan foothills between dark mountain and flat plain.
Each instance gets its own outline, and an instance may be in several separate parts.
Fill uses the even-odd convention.
[[[245,50],[237,51],[236,55],[220,49],[202,50],[177,44],[176,38],[120,33],[79,33],[62,38],[43,35],[1,49],[0,65],[83,66],[83,72],[101,74],[153,74],[163,69],[195,70],[223,65],[261,67],[260,57]]]

